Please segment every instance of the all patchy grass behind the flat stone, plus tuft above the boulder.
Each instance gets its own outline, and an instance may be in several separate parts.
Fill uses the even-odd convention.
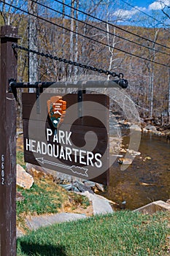
[[[17,161],[26,168],[23,162],[23,153],[18,152]],[[17,202],[17,226],[25,232],[27,229],[26,217],[41,214],[55,214],[61,211],[79,212],[90,206],[87,197],[67,192],[56,184],[51,177],[34,177],[34,184],[31,189],[17,188],[23,196],[23,200]]]

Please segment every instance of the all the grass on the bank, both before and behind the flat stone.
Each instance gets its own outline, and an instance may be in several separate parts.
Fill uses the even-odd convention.
[[[23,152],[18,163],[24,168]],[[153,216],[117,211],[30,231],[26,216],[86,208],[86,197],[67,192],[50,178],[35,178],[31,189],[20,189],[24,200],[17,202],[17,225],[26,231],[18,238],[18,256],[168,256],[170,254],[170,214]]]

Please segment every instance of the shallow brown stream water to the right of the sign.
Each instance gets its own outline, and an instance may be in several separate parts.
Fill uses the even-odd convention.
[[[128,136],[123,144],[128,145]],[[170,198],[170,142],[151,133],[143,134],[140,156],[126,169],[117,160],[110,168],[110,181],[102,195],[128,209]],[[147,157],[147,159],[145,158]]]

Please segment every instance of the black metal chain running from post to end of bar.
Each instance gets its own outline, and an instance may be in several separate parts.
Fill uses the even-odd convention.
[[[114,78],[115,77],[123,78],[123,73],[117,74],[115,72],[110,72],[109,70],[98,69],[97,67],[91,67],[91,66],[88,66],[88,65],[85,65],[85,64],[77,63],[75,61],[69,61],[67,59],[62,59],[62,58],[59,58],[57,56],[53,56],[53,55],[48,54],[48,53],[41,53],[41,52],[39,52],[37,50],[31,50],[31,49],[25,48],[23,46],[17,45],[15,43],[12,43],[12,48],[13,49],[17,48],[17,49],[20,49],[20,50],[25,50],[28,53],[34,53],[34,54],[37,54],[37,55],[45,57],[45,58],[54,59],[55,61],[60,61],[60,62],[66,63],[66,64],[70,64],[70,65],[76,66],[76,67],[82,67],[84,69],[96,71],[96,72],[98,72],[100,74],[111,75]]]

